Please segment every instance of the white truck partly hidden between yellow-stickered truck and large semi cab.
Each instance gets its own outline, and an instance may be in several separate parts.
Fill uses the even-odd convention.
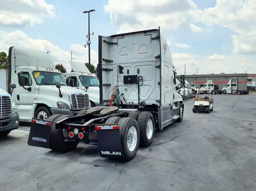
[[[99,106],[99,80],[96,74],[92,74],[85,66],[85,63],[69,61],[72,71],[64,74],[68,85],[86,91],[89,94],[92,107]],[[74,80],[74,85],[69,83]]]

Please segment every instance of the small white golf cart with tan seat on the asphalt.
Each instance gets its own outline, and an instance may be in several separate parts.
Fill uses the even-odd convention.
[[[208,96],[199,97],[200,91],[207,91]],[[210,98],[210,89],[199,89],[196,90],[196,97],[194,98],[194,106],[193,106],[193,112],[196,113],[197,111],[205,111],[207,113],[210,113],[210,111],[213,111],[213,103],[214,100]],[[212,94],[211,94],[212,95]]]

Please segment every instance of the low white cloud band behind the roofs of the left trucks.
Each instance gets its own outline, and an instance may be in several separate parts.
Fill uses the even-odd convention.
[[[68,60],[71,60],[71,50],[75,51],[75,56],[77,62],[88,62],[88,48],[84,46],[72,44],[70,49],[61,49],[60,47],[53,45],[51,42],[42,39],[32,39],[28,37],[23,31],[5,32],[0,31],[0,51],[5,51],[8,54],[8,49],[10,46],[22,46],[26,48],[38,49],[41,51],[49,51],[50,55],[53,57],[55,63],[63,63],[67,71],[71,71],[71,67]],[[91,50],[91,64],[97,66],[98,55],[97,52]]]

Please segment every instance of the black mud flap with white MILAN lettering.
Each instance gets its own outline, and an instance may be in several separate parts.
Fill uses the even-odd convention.
[[[97,141],[101,157],[124,158],[118,125],[96,125]]]

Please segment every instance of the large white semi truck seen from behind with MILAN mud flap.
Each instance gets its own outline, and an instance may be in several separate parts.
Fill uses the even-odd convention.
[[[97,68],[102,106],[75,117],[33,119],[28,145],[71,151],[83,141],[98,145],[102,157],[132,160],[139,145],[152,144],[156,129],[182,122],[184,103],[160,27],[99,36]]]

